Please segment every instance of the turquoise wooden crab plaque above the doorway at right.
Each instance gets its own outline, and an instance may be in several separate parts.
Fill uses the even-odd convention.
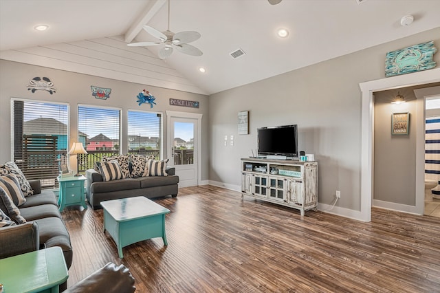
[[[421,43],[386,53],[385,76],[396,76],[432,69],[437,63],[432,58],[437,52],[434,41]]]

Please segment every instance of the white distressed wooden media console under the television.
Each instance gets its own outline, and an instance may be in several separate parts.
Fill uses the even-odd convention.
[[[300,210],[318,205],[318,162],[241,159],[241,195]]]

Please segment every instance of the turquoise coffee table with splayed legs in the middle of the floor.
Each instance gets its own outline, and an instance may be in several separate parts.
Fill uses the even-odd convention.
[[[130,244],[165,235],[165,215],[168,208],[146,197],[128,197],[101,202],[104,208],[104,232],[107,230],[115,240],[120,259],[122,248]]]

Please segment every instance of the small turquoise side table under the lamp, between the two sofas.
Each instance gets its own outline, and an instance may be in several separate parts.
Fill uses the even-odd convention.
[[[60,182],[60,195],[58,197],[58,206],[60,212],[66,206],[83,206],[87,208],[84,197],[84,182],[86,177],[72,176],[56,178]]]

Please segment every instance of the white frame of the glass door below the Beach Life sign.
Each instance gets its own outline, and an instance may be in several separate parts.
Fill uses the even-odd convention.
[[[197,119],[197,185],[201,182],[201,117],[203,114],[201,113],[188,113],[188,112],[180,112],[180,111],[169,111],[166,110],[166,150],[167,153],[170,151],[168,146],[171,143],[171,140],[173,140],[173,133],[171,131],[168,131],[170,129],[171,125],[171,118],[190,118],[190,119]],[[168,153],[169,157],[170,153]]]

